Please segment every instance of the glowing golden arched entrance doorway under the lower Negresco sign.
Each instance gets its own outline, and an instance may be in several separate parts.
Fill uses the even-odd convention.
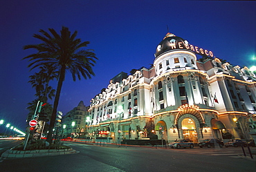
[[[196,133],[196,125],[194,121],[187,117],[182,122],[183,138],[192,140],[192,142],[198,142],[198,137]]]

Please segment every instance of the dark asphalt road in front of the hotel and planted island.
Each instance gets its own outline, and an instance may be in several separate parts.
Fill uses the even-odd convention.
[[[134,146],[65,144],[80,153],[6,159],[0,171],[255,171],[256,162],[239,148],[155,149]],[[15,165],[14,165],[15,164]]]

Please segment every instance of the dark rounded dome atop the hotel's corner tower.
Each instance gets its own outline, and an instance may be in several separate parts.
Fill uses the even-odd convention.
[[[188,41],[186,41],[185,39],[181,37],[176,37],[174,34],[168,32],[167,35],[165,35],[163,41],[158,44],[155,57],[158,57],[159,55],[162,55],[163,53],[171,50],[190,51],[190,46],[188,44]]]

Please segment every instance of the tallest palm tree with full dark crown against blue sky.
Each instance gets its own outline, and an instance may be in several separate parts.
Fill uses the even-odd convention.
[[[57,90],[47,135],[47,141],[51,144],[57,106],[59,104],[60,93],[66,72],[71,73],[73,81],[75,81],[76,78],[81,79],[81,77],[90,79],[91,75],[95,75],[92,66],[96,63],[95,59],[98,58],[95,57],[95,53],[92,52],[93,50],[81,49],[86,47],[89,44],[89,41],[82,42],[81,39],[75,38],[77,36],[77,31],[73,32],[71,35],[68,28],[63,26],[62,30],[60,30],[60,35],[58,35],[53,28],[49,28],[48,30],[50,33],[44,30],[39,30],[41,35],[33,35],[33,37],[40,39],[42,43],[24,46],[24,50],[29,48],[37,50],[35,54],[28,55],[27,57],[24,57],[24,59],[32,61],[32,63],[28,65],[30,70],[39,66],[44,66],[45,64],[52,66],[52,68],[57,68]]]

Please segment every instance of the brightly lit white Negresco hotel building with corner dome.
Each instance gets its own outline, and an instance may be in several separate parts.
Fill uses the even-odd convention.
[[[256,77],[248,68],[223,64],[212,51],[170,33],[155,57],[152,68],[120,73],[91,99],[91,137],[114,142],[253,137]]]

